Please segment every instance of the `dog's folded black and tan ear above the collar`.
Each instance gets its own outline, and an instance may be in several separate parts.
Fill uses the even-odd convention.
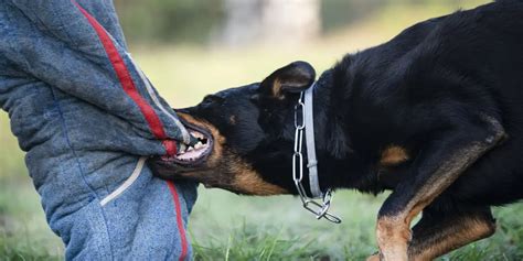
[[[307,62],[293,62],[265,78],[259,91],[264,96],[284,99],[286,93],[300,93],[309,88],[316,78],[316,72]]]

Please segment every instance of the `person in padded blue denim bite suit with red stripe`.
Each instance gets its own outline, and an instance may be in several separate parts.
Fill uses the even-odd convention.
[[[0,0],[0,106],[67,260],[186,260],[192,183],[146,160],[191,143],[111,1]]]

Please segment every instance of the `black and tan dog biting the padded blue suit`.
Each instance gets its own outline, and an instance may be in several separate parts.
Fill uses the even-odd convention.
[[[202,143],[152,162],[157,174],[296,194],[293,110],[313,80],[296,62],[180,110]],[[393,191],[371,259],[431,260],[491,236],[490,207],[523,198],[523,1],[418,23],[345,56],[314,88],[321,188]]]

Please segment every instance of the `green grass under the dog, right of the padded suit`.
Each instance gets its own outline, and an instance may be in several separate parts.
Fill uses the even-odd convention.
[[[190,232],[198,260],[364,260],[376,251],[374,226],[384,196],[339,192],[341,225],[316,220],[290,196],[238,197],[201,193]],[[216,203],[225,203],[217,205]],[[523,206],[495,209],[498,232],[441,260],[522,260]]]

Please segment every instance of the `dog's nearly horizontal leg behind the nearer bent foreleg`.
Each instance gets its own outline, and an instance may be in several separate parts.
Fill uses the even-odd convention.
[[[490,208],[467,213],[426,215],[413,228],[408,257],[413,261],[429,261],[470,242],[488,238],[495,231]]]

